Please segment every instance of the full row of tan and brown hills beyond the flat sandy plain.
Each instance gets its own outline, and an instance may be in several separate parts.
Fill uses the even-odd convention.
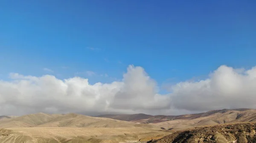
[[[104,117],[104,118],[102,118]],[[112,119],[114,118],[114,119]],[[119,120],[117,120],[119,119]],[[0,116],[0,127],[163,127],[165,129],[187,129],[195,126],[220,123],[256,121],[256,109],[222,109],[189,115],[100,115],[98,117],[79,114],[36,113],[19,117]],[[142,123],[142,124],[138,124]]]

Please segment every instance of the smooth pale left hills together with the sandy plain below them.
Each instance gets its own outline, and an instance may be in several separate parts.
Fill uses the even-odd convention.
[[[153,124],[79,114],[36,113],[0,120],[0,143],[119,143],[166,136]]]

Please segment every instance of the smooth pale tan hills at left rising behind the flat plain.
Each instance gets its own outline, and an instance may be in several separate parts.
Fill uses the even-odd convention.
[[[8,118],[0,121],[1,128],[17,128],[17,127],[155,127],[154,125],[141,124],[114,120],[110,118],[99,118],[91,117],[79,114],[45,114],[45,113],[36,113],[30,115],[23,115],[16,118]]]

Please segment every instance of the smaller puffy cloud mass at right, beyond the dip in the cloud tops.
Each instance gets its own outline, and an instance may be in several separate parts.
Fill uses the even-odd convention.
[[[233,69],[222,65],[209,79],[172,86],[172,106],[190,111],[256,108],[256,67]]]

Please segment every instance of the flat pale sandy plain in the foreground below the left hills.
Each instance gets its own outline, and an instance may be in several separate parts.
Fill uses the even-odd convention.
[[[163,137],[170,134],[159,129],[141,127],[28,127],[8,129],[12,132],[10,135],[0,136],[0,143],[119,143],[138,141],[140,138],[154,137],[157,135]]]

